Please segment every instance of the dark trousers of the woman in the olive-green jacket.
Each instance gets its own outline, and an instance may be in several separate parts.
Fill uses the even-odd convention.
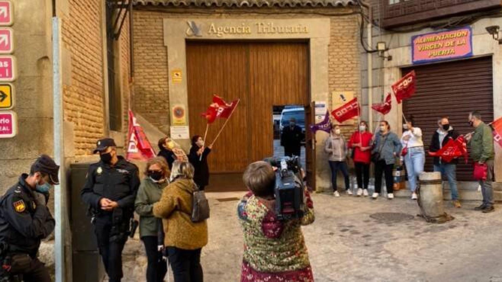
[[[143,236],[141,240],[145,244],[147,252],[147,282],[162,282],[167,273],[167,261],[162,259],[162,252],[159,251],[157,236]]]

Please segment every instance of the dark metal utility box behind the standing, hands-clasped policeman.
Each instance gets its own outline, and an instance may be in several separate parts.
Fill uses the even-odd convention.
[[[100,282],[105,271],[96,244],[87,206],[80,198],[91,163],[71,164],[70,226],[72,233],[73,282]]]

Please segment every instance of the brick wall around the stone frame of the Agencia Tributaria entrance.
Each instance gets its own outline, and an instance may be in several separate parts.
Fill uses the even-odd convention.
[[[164,46],[164,18],[330,18],[329,90],[360,93],[359,18],[356,15],[334,17],[346,13],[337,9],[200,9],[152,8],[137,6],[134,20],[135,110],[149,122],[168,133],[170,121],[167,49]],[[159,12],[162,11],[162,12]],[[231,11],[231,12],[230,12]],[[330,103],[331,101],[329,101]],[[347,129],[348,130],[348,129]],[[352,128],[350,129],[352,130]]]

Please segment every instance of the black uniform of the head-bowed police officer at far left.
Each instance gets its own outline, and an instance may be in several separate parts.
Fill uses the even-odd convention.
[[[22,274],[25,282],[50,282],[48,270],[37,258],[40,241],[54,230],[56,222],[46,205],[37,205],[35,193],[26,183],[28,174],[19,178],[0,199],[0,241],[9,245],[7,255],[12,260],[12,275]],[[47,204],[48,194],[45,194]],[[24,266],[13,263],[25,261]]]

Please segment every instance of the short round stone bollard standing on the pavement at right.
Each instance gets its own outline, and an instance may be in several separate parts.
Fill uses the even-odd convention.
[[[417,189],[421,216],[428,222],[444,223],[453,217],[444,211],[443,187],[440,172],[423,172]]]

